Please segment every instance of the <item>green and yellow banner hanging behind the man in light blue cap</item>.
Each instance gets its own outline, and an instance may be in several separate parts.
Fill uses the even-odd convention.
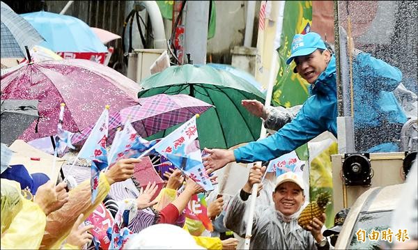
[[[286,1],[279,47],[279,72],[273,88],[274,106],[293,107],[303,104],[309,96],[308,83],[293,73],[295,63],[286,64],[291,55],[293,36],[307,33],[312,26],[312,1]]]

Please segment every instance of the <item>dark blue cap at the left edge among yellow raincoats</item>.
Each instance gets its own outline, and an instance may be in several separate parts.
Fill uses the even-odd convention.
[[[49,180],[48,175],[45,173],[29,174],[22,164],[11,165],[1,173],[1,178],[19,182],[22,189],[30,191],[33,195],[36,194],[38,187],[44,185]]]

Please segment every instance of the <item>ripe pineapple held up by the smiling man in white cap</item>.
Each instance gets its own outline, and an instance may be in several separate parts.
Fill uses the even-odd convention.
[[[306,228],[306,226],[311,224],[311,221],[314,217],[320,219],[322,218],[323,212],[327,208],[327,204],[330,201],[330,195],[328,192],[323,192],[318,194],[316,201],[311,201],[304,210],[299,215],[299,219],[297,219],[297,224],[302,228]]]

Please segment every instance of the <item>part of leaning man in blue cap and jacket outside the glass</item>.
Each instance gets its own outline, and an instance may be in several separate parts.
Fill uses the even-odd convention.
[[[204,166],[208,173],[229,162],[266,162],[295,150],[329,131],[336,136],[336,68],[335,57],[327,50],[318,33],[297,34],[293,38],[292,53],[286,61],[295,60],[298,74],[311,86],[311,97],[304,102],[297,116],[272,136],[253,141],[235,150],[205,148]]]

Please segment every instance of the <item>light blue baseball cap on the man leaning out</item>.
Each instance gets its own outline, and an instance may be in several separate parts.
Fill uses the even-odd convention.
[[[309,32],[304,35],[296,34],[292,42],[292,54],[286,60],[286,64],[291,64],[296,56],[306,56],[314,52],[316,49],[327,49],[324,41],[318,33]]]

